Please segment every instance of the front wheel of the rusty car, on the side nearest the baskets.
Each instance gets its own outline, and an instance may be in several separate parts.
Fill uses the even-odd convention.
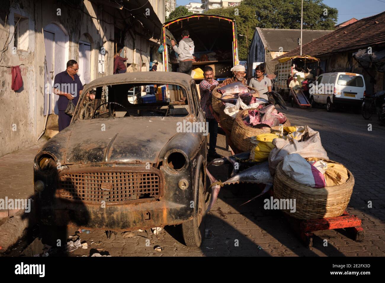
[[[203,174],[199,176],[198,213],[194,218],[182,223],[184,243],[189,247],[199,248],[206,229],[206,203],[204,199]]]

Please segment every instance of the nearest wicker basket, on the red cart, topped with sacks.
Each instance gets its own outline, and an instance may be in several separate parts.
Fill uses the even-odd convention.
[[[328,159],[321,160],[340,164]],[[274,198],[296,200],[295,212],[290,213],[290,209],[286,209],[283,210],[285,213],[298,219],[327,218],[343,214],[353,192],[354,177],[352,172],[348,170],[349,178],[344,184],[326,188],[312,188],[287,176],[282,170],[282,163],[283,161],[278,164],[275,172]]]

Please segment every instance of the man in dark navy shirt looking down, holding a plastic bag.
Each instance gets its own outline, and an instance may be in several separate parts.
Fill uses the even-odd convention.
[[[68,101],[71,100],[76,107],[79,96],[82,94],[83,85],[76,74],[79,65],[75,60],[67,62],[67,70],[55,75],[54,93],[59,95],[57,108],[59,110],[59,132],[69,126],[72,116],[65,114]]]

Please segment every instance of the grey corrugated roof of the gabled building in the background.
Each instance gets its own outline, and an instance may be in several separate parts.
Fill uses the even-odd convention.
[[[301,37],[301,30],[289,28],[257,28],[262,33],[265,47],[269,51],[283,52],[291,51],[298,47],[298,39]],[[302,43],[306,44],[319,37],[332,32],[333,30],[302,30]]]

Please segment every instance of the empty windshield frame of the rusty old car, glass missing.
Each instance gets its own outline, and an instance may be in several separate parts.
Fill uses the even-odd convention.
[[[193,80],[191,80],[192,82]],[[71,124],[72,122],[74,121],[95,121],[95,119],[106,119],[105,117],[99,117],[99,118],[90,118],[90,119],[80,119],[79,118],[79,115],[80,115],[80,111],[83,107],[83,104],[84,104],[84,100],[85,100],[85,97],[87,95],[87,93],[91,90],[91,89],[96,89],[98,87],[108,87],[109,85],[122,85],[122,84],[141,84],[141,85],[153,85],[153,84],[157,84],[157,85],[176,85],[178,87],[180,87],[182,89],[182,91],[184,91],[186,93],[186,99],[187,99],[187,105],[188,109],[187,110],[187,114],[186,116],[183,116],[183,117],[187,117],[187,116],[190,116],[194,111],[192,109],[194,109],[194,105],[193,105],[193,98],[191,97],[192,94],[189,93],[188,89],[182,85],[182,84],[178,84],[176,82],[148,82],[148,81],[134,81],[134,82],[120,82],[120,83],[116,83],[116,84],[106,84],[106,83],[103,83],[103,84],[96,84],[96,85],[86,85],[86,87],[83,89],[82,91],[82,94],[80,95],[80,98],[79,98],[79,101],[76,105],[76,108],[75,108],[75,111],[74,111],[74,115],[72,116],[72,120],[71,120]],[[133,104],[133,105],[137,105],[137,104]],[[137,116],[127,116],[127,117],[119,117],[119,119],[121,118],[130,118],[130,117],[137,117]],[[152,116],[139,116],[139,117],[152,117]],[[155,117],[163,117],[163,116],[155,116]],[[118,118],[118,117],[116,117]],[[167,119],[180,119],[181,117],[180,116],[166,116],[164,118],[167,118]],[[107,119],[110,119],[110,118],[107,118]]]

